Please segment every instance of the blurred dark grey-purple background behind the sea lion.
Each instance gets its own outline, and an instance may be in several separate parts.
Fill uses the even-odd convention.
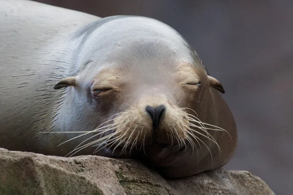
[[[293,194],[293,0],[36,0],[106,17],[167,23],[220,80],[239,145],[226,169]]]

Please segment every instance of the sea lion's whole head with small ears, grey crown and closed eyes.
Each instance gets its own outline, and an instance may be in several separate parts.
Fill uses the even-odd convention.
[[[84,30],[92,32],[82,43],[76,75],[55,86],[71,86],[83,97],[72,103],[91,121],[84,131],[99,134],[88,146],[113,156],[150,156],[157,164],[170,151],[194,150],[196,137],[205,133],[194,133],[203,125],[199,121],[212,120],[210,90],[224,93],[221,83],[166,24],[130,16],[103,20]]]

